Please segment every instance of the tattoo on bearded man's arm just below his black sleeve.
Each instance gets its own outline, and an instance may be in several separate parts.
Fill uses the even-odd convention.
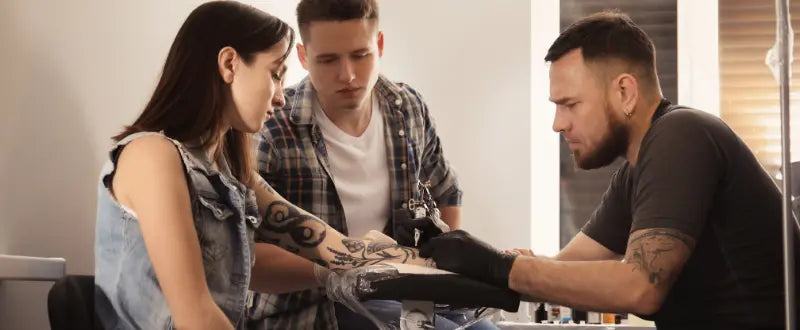
[[[644,272],[653,285],[670,284],[679,273],[674,258],[680,253],[680,244],[692,251],[695,243],[674,229],[648,230],[628,240],[625,262],[634,266],[633,271]]]

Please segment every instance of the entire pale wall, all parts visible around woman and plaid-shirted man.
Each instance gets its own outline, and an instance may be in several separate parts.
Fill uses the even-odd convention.
[[[0,253],[93,272],[109,137],[141,111],[201,2],[0,1]],[[294,22],[295,0],[253,3]],[[530,3],[382,5],[384,72],[426,97],[465,190],[464,227],[501,248],[530,246]],[[47,329],[49,287],[0,282],[0,329]]]

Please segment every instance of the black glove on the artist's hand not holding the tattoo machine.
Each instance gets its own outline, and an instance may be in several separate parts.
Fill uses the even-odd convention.
[[[463,230],[431,238],[419,250],[433,258],[436,267],[495,286],[508,288],[508,275],[516,255],[503,253]]]

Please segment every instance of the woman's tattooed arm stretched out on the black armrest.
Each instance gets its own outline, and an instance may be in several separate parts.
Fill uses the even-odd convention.
[[[263,215],[257,235],[268,243],[333,270],[382,262],[433,267],[429,259],[419,257],[417,249],[386,240],[344,236],[314,215],[287,202],[260,176],[255,181],[251,186],[256,191]]]

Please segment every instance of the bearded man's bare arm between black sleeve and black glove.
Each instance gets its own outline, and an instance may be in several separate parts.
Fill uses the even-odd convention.
[[[652,314],[661,308],[694,248],[668,228],[633,232],[622,261],[559,261],[520,256],[509,287],[532,300],[600,312]]]

